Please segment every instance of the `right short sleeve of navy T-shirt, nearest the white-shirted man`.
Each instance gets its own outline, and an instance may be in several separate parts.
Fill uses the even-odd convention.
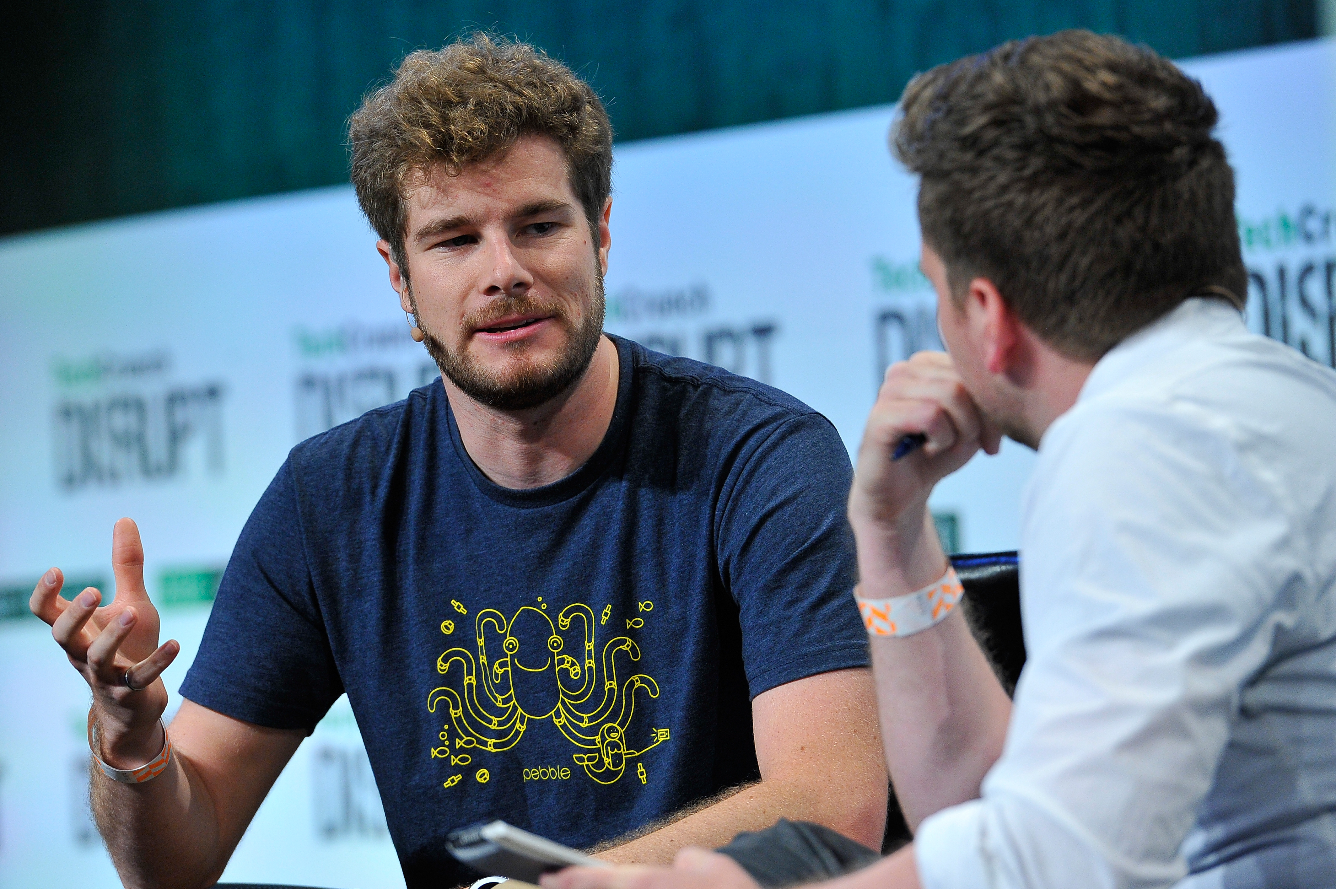
[[[752,698],[868,663],[867,635],[850,600],[851,480],[844,444],[815,413],[767,430],[729,473],[716,515],[719,572],[737,603]]]

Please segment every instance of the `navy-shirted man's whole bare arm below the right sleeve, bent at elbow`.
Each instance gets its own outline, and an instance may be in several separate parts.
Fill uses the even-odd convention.
[[[814,821],[879,849],[887,779],[872,696],[868,670],[823,672],[756,695],[762,779],[599,857],[668,864],[684,846],[721,846],[779,818]]]

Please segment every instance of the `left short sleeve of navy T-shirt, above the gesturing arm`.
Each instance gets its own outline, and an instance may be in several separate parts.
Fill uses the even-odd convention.
[[[307,734],[343,694],[306,563],[291,460],[242,529],[180,694]]]

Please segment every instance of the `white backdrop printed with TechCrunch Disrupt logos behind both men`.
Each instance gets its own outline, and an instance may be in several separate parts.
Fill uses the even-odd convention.
[[[1249,324],[1333,362],[1336,43],[1184,67],[1238,172]],[[855,448],[882,368],[937,346],[891,114],[621,146],[608,329],[786,389]],[[175,690],[287,449],[436,374],[373,243],[347,187],[0,241],[0,886],[116,884],[87,814],[87,688],[27,614],[33,583],[57,564],[106,584],[134,516]],[[962,549],[1015,547],[1030,465],[1007,445],[941,485]],[[402,885],[346,699],[224,880]]]

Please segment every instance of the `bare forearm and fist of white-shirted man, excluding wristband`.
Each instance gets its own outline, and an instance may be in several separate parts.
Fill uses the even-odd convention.
[[[890,459],[906,434],[927,442]],[[951,358],[919,353],[887,369],[863,433],[848,515],[864,599],[904,596],[947,568],[927,499],[981,448],[998,449]],[[911,829],[974,799],[1002,753],[1011,703],[959,612],[911,636],[872,639],[891,782]]]

